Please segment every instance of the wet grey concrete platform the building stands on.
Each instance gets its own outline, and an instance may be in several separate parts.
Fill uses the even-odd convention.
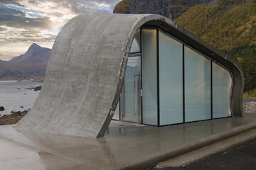
[[[0,150],[5,151],[0,155],[0,166],[11,167],[16,162],[16,167],[26,163],[28,169],[38,166],[38,169],[142,170],[255,128],[253,118],[225,118],[162,128],[114,121],[104,137],[85,138],[18,132],[11,125],[4,125],[0,128],[3,144]],[[237,137],[230,143],[243,138]],[[13,156],[4,161],[5,154]]]

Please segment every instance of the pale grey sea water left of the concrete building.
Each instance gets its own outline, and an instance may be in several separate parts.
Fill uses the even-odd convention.
[[[11,114],[11,111],[24,111],[32,108],[40,91],[30,90],[30,88],[42,84],[28,80],[0,81],[0,106],[5,108],[5,111],[0,111],[0,115],[8,115]]]

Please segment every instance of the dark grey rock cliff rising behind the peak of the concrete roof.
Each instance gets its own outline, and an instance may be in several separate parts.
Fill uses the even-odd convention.
[[[174,21],[189,8],[198,4],[218,4],[219,0],[123,0],[113,13],[156,13]]]

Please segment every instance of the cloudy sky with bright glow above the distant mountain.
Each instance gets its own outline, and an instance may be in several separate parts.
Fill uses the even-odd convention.
[[[112,13],[120,0],[0,0],[0,60],[32,43],[52,48],[64,24],[82,13]]]

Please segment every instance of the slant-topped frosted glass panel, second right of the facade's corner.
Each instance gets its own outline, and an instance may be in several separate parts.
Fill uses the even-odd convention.
[[[210,60],[188,47],[185,53],[185,121],[210,119]]]

